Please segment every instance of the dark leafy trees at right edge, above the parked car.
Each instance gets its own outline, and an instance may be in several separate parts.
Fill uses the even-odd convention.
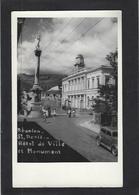
[[[115,84],[108,82],[106,85],[99,86],[99,97],[95,99],[93,106],[94,112],[101,113],[102,125],[117,126],[117,58],[118,52],[111,52],[106,56],[109,61],[112,71],[110,77],[114,79]]]

